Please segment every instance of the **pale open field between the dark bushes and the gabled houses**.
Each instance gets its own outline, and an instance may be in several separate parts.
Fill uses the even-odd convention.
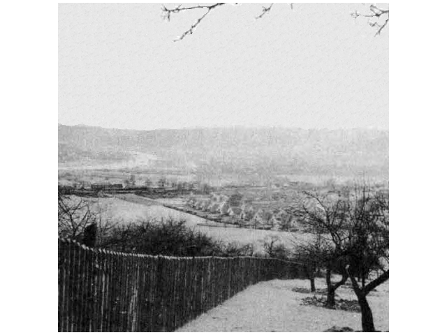
[[[210,227],[204,218],[186,214],[175,209],[163,207],[154,200],[139,197],[138,195],[122,195],[122,198],[87,198],[91,202],[91,208],[103,219],[117,221],[125,225],[133,221],[145,218],[176,218],[184,219],[186,225],[197,231],[203,232],[214,239],[227,243],[254,244],[255,252],[263,251],[263,241],[272,237],[291,248],[293,241],[305,241],[311,237],[309,234],[294,234],[291,232],[277,232],[272,230],[255,230],[246,228]],[[124,200],[126,199],[126,200]]]

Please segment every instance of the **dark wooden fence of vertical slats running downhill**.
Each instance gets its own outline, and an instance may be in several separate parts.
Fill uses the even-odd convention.
[[[59,239],[59,332],[172,332],[248,285],[303,278],[274,258],[117,253]]]

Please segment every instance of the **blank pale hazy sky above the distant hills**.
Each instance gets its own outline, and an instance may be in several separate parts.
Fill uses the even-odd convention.
[[[366,7],[221,6],[177,43],[203,11],[160,7],[59,3],[59,123],[388,129],[389,28],[354,22]]]

